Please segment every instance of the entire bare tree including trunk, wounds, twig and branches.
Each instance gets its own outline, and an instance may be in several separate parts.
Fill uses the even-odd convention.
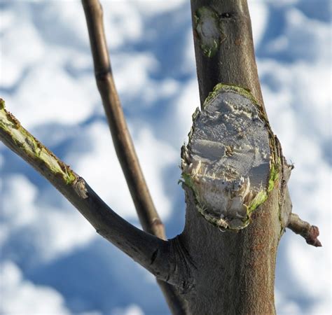
[[[83,3],[85,10],[89,10],[89,6],[93,3],[98,4],[98,1],[86,0]],[[279,141],[272,134],[263,106],[247,1],[192,0],[191,5],[200,99],[204,115],[195,113],[189,143],[181,152],[183,187],[186,193],[186,225],[181,235],[169,241],[161,239],[165,234],[162,226],[158,225],[158,220],[157,222],[154,220],[158,215],[151,198],[147,190],[140,191],[137,187],[139,183],[146,187],[138,162],[135,162],[136,171],[132,172],[130,169],[128,157],[132,156],[135,159],[130,136],[124,134],[123,139],[116,139],[114,135],[114,132],[126,129],[125,120],[113,85],[105,47],[103,50],[98,50],[98,47],[102,48],[104,45],[104,33],[100,28],[100,21],[99,25],[95,25],[93,22],[95,17],[89,17],[89,11],[87,20],[91,42],[97,45],[95,40],[99,37],[101,44],[97,47],[92,45],[92,54],[97,66],[97,84],[102,94],[106,115],[110,120],[113,139],[118,147],[120,160],[124,161],[126,179],[131,186],[144,229],[160,238],[134,228],[113,212],[80,176],[48,151],[6,111],[2,99],[0,99],[0,139],[45,176],[69,202],[74,204],[100,235],[130,255],[157,279],[164,281],[161,286],[174,314],[275,314],[275,260],[279,239],[284,229],[289,227],[305,237],[308,244],[320,246],[317,239],[318,228],[291,214],[287,182],[292,167],[287,165]],[[100,14],[99,9],[96,10],[92,13]],[[220,108],[209,107],[213,102],[219,102],[220,95],[209,95],[219,83],[228,86],[226,90],[228,89],[230,98],[226,99],[227,102],[223,99],[223,102],[225,101],[225,106],[230,106],[230,115],[233,115],[231,124],[225,123],[227,118],[223,117],[219,121],[215,119],[218,115],[208,112],[210,108]],[[232,87],[229,87],[230,85]],[[218,93],[224,93],[223,89],[225,88],[222,87]],[[237,104],[237,101],[234,101],[234,104],[232,99],[233,101],[247,99],[245,102],[250,104],[247,103],[248,107]],[[118,116],[118,120],[114,119],[114,113]],[[261,183],[264,183],[262,191],[246,190],[243,196],[236,195],[235,188],[230,190],[230,183],[234,183],[235,179],[227,179],[228,186],[225,186],[227,187],[225,190],[222,186],[224,183],[219,185],[222,179],[218,177],[219,173],[227,176],[233,173],[237,177],[247,176],[240,173],[241,165],[235,170],[231,169],[234,171],[232,173],[223,169],[224,165],[221,163],[212,161],[218,160],[219,156],[216,157],[216,153],[220,152],[228,158],[244,154],[240,146],[239,151],[235,151],[233,147],[224,150],[223,146],[228,139],[220,137],[218,142],[220,130],[222,128],[226,128],[226,132],[232,130],[235,125],[237,126],[235,118],[240,119],[241,115],[246,117],[245,121],[251,124],[251,128],[255,123],[261,126],[263,122],[265,132],[268,134],[265,138],[268,139],[267,147],[272,161],[270,167],[259,172]],[[215,128],[206,123],[211,117]],[[229,130],[225,127],[228,125]],[[216,130],[219,130],[219,133],[215,132]],[[246,131],[248,130],[242,131],[244,137],[255,135],[255,132],[249,132],[251,135],[247,135]],[[211,139],[207,137],[208,134],[214,137],[213,141],[209,141]],[[242,140],[238,141],[240,145],[243,143]],[[223,146],[219,146],[219,143]],[[254,142],[248,143],[250,146],[252,144],[250,149],[260,148],[260,146],[255,147]],[[200,150],[196,150],[197,146],[200,146]],[[122,147],[128,150],[127,155],[121,155]],[[214,173],[211,176],[202,171],[203,162],[197,160],[195,165],[190,164],[194,153],[196,158],[202,158],[203,162],[216,163],[216,176]],[[246,163],[245,160],[243,163]],[[135,178],[137,174],[139,176]],[[214,178],[216,181],[211,181]],[[226,197],[229,193],[229,201],[233,202],[235,198],[236,200],[240,198],[243,201],[240,205],[241,210],[250,210],[247,212],[248,220],[247,217],[240,216],[240,221],[233,224],[234,214],[238,213],[232,212],[234,210],[232,207],[220,207],[227,208],[226,210],[209,209],[209,205],[216,203],[212,200],[211,191],[205,194],[207,186],[202,183],[211,183],[212,188],[222,188],[220,191],[225,193]],[[249,181],[245,183],[249,188]],[[212,189],[212,192],[214,191]],[[263,193],[259,202],[255,200],[253,193],[256,196],[258,193]],[[211,200],[207,200],[209,198]],[[252,200],[255,201],[254,204]],[[246,207],[242,207],[244,205]],[[149,210],[146,212],[146,209]],[[230,220],[228,220],[229,211],[232,214]]]

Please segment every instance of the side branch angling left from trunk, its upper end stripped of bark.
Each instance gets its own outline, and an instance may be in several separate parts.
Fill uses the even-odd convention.
[[[170,245],[118,216],[78,174],[25,130],[0,99],[0,140],[43,175],[83,214],[99,235],[159,279],[170,278]]]

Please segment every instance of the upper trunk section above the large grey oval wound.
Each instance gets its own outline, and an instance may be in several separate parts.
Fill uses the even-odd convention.
[[[191,0],[201,104],[218,83],[244,87],[263,106],[247,0]]]

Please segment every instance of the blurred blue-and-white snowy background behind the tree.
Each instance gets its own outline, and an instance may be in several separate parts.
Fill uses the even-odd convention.
[[[169,238],[184,227],[180,147],[199,106],[189,0],[102,1],[113,73]],[[295,165],[293,211],[324,247],[287,231],[278,314],[331,314],[331,1],[249,0],[270,123]],[[113,150],[80,1],[0,1],[0,96],[32,134],[139,226]],[[169,314],[153,276],[99,237],[3,144],[1,314]]]

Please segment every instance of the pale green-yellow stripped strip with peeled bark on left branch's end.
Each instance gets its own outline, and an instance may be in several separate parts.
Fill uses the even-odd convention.
[[[34,160],[36,165],[43,165],[51,174],[61,176],[66,184],[74,183],[76,176],[69,166],[60,161],[52,152],[41,144],[32,134],[20,125],[20,122],[5,109],[5,102],[0,99],[0,130],[22,152],[22,155]]]

